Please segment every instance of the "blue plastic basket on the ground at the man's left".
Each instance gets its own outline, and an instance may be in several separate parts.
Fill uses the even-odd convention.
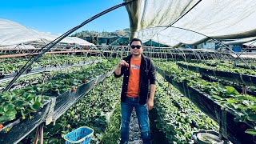
[[[71,131],[64,136],[66,144],[71,143],[90,143],[91,137],[94,135],[94,130],[87,126],[79,127],[77,130]]]

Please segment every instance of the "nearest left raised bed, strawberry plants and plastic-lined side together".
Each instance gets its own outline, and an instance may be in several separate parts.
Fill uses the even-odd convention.
[[[5,111],[8,111],[9,109],[11,110],[10,114],[12,116],[11,118],[3,121],[3,124],[5,127],[2,129],[2,131],[10,131],[10,132],[6,133],[6,135],[8,135],[6,137],[2,137],[2,135],[0,134],[0,136],[2,138],[2,141],[0,141],[0,142],[6,143],[6,141],[8,139],[10,139],[11,137],[15,137],[15,138],[12,138],[14,140],[11,140],[10,143],[19,142],[20,140],[22,140],[22,138],[26,137],[27,134],[29,134],[32,130],[34,130],[34,128],[36,126],[38,126],[42,122],[44,122],[44,121],[52,122],[52,120],[53,120],[52,117],[54,116],[55,105],[57,108],[59,108],[59,110],[63,110],[62,108],[63,107],[65,108],[65,106],[63,106],[63,105],[65,105],[66,103],[69,103],[69,105],[68,105],[69,107],[72,106],[74,104],[74,102],[78,101],[79,98],[81,98],[89,90],[91,90],[94,85],[98,84],[104,78],[106,78],[107,74],[109,74],[110,72],[106,72],[105,74],[102,74],[102,71],[109,71],[109,70],[111,70],[112,66],[113,66],[113,63],[111,63],[111,62],[102,62],[101,64],[97,64],[97,65],[94,64],[94,65],[90,66],[90,69],[89,69],[89,66],[86,66],[84,68],[78,67],[78,68],[75,68],[74,70],[72,69],[71,71],[69,71],[69,73],[54,74],[54,77],[50,78],[49,82],[47,81],[46,83],[42,82],[38,85],[26,86],[22,90],[14,90],[11,92],[5,92],[6,94],[9,94],[10,96],[8,95],[8,97],[6,97],[6,94],[5,94],[2,97],[4,99],[2,99],[0,97],[0,102],[2,100],[4,100],[2,105],[6,105],[4,103],[6,100],[10,101],[10,99],[14,99],[14,102],[12,102],[13,104],[11,104],[11,106],[9,106],[10,108],[7,107],[8,109],[4,107],[3,110],[1,111],[1,108],[0,108],[0,120],[1,120],[1,118],[5,118],[6,116],[8,116],[8,115],[5,116],[5,114],[9,114],[9,113],[5,113]],[[97,74],[101,74],[101,75],[97,76]],[[88,82],[87,82],[87,78],[88,78]],[[39,97],[41,94],[52,97],[51,98],[52,101],[48,102],[47,106],[45,106],[46,103],[44,103],[44,105],[42,105],[42,103],[40,103],[42,101],[42,98]],[[64,99],[66,98],[66,96],[69,96],[69,97],[66,98],[66,100],[64,102],[64,101],[60,101],[60,99],[62,99],[61,97],[59,97],[60,95],[62,95]],[[21,103],[20,101],[16,102],[17,100],[15,100],[15,99],[17,99],[17,98],[14,98],[16,96],[17,96],[17,98],[22,98],[22,104],[20,104]],[[57,102],[56,102],[56,99],[57,99]],[[68,102],[67,100],[70,100],[70,102]],[[31,104],[30,103],[27,104],[28,102],[30,102]],[[21,112],[19,112],[21,109],[20,108],[21,106],[19,106],[19,105],[23,106],[24,103],[26,104],[25,105],[26,107],[24,106],[25,107],[24,110],[22,107]],[[49,107],[49,105],[50,105],[50,107]],[[16,106],[16,107],[14,107],[14,106]],[[40,107],[42,108],[42,110],[44,110],[44,108],[47,108],[47,109],[46,109],[46,111],[40,111],[41,110],[41,109],[39,109]],[[14,110],[14,108],[19,113],[17,113],[16,110]],[[37,110],[39,110],[39,111],[37,111]],[[60,114],[62,114],[61,112],[64,112],[64,111],[66,111],[66,110],[64,109],[63,111],[57,111],[57,113],[58,113],[58,115],[60,115]],[[5,117],[2,117],[2,114]],[[16,117],[18,117],[18,119],[13,118],[15,115],[16,115]],[[26,117],[23,117],[24,115]],[[22,116],[22,118],[19,118],[19,116]],[[25,120],[22,120],[22,122],[26,122],[26,118],[31,119],[31,121],[28,121],[28,123],[26,123],[27,128],[24,128],[24,126],[22,124],[20,124],[20,121],[21,121],[20,119],[25,119]],[[19,133],[21,133],[21,134],[16,134],[18,132],[18,130],[16,130],[15,128],[8,130],[12,126],[13,122],[14,122],[15,126],[17,125],[17,127],[21,127],[21,129],[19,129],[19,130],[24,130],[24,133],[19,131]],[[31,123],[31,125],[33,127],[29,126],[29,123]],[[21,126],[19,126],[19,125],[21,125]],[[14,130],[14,132],[13,132],[13,130]],[[16,134],[16,135],[12,135],[12,134]],[[3,138],[5,138],[5,139],[3,139]]]

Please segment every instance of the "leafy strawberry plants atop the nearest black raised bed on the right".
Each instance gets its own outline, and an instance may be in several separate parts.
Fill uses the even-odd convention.
[[[158,63],[159,69],[166,72],[166,75],[176,82],[186,82],[207,97],[217,102],[227,110],[231,110],[235,115],[236,122],[249,122],[256,125],[256,98],[250,95],[239,94],[232,86],[222,86],[218,82],[207,82],[199,75],[189,70],[180,70],[172,62]]]

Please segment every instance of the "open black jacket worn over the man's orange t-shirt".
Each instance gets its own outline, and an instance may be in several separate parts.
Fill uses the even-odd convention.
[[[124,74],[123,82],[122,82],[122,93],[121,93],[121,100],[122,102],[125,102],[126,99],[126,91],[128,87],[128,81],[130,76],[130,58],[132,55],[127,56],[126,58],[123,58],[127,63],[129,63],[129,67],[122,66],[121,68],[121,74],[117,75],[114,73],[115,78],[119,78]],[[139,72],[140,78],[139,78],[139,95],[138,95],[138,103],[139,104],[146,104],[146,100],[149,96],[149,86],[150,84],[155,84],[155,70],[154,70],[154,64],[150,60],[150,58],[146,58],[142,54],[142,62]]]

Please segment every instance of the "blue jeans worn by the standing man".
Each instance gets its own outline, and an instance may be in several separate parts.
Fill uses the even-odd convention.
[[[128,143],[130,132],[130,115],[135,108],[138,118],[138,125],[141,130],[143,144],[150,144],[150,122],[149,113],[145,105],[138,103],[138,98],[126,97],[126,102],[121,102],[122,110],[122,126],[121,126],[121,142]]]

